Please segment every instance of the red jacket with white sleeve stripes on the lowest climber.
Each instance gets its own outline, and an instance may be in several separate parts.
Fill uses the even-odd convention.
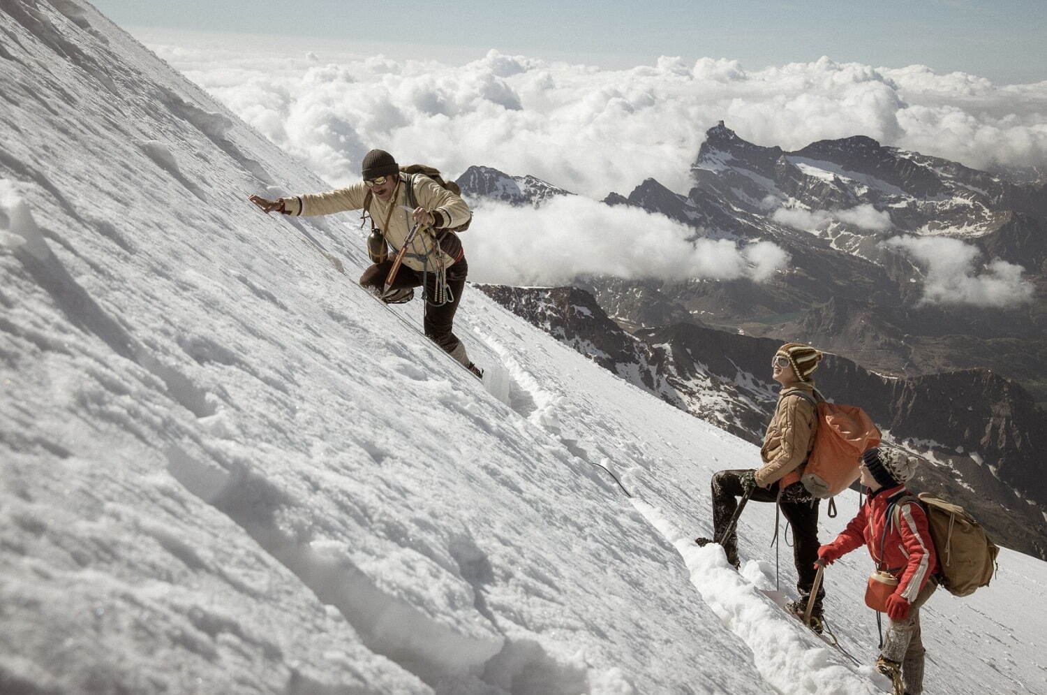
[[[898,588],[894,592],[912,603],[931,575],[941,568],[928,528],[927,514],[915,499],[903,502],[897,514],[891,512],[891,518],[887,517],[888,506],[893,507],[892,498],[909,494],[905,485],[877,491],[829,545],[838,557],[860,545],[867,545],[876,567],[889,570],[898,579]],[[883,558],[879,557],[881,543]]]

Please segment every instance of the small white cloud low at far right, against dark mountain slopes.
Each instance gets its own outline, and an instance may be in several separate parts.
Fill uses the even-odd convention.
[[[959,239],[907,235],[884,244],[925,268],[921,303],[1005,307],[1032,300],[1034,287],[1022,279],[1021,265],[994,259],[979,268],[981,251]]]

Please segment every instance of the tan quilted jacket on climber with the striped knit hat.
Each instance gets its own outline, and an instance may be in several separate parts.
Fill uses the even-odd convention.
[[[797,469],[807,460],[815,446],[818,409],[803,396],[788,395],[796,390],[814,396],[815,385],[806,382],[789,386],[778,396],[774,417],[760,448],[763,468],[756,472],[756,484],[760,487],[770,487],[789,473],[799,473]]]

